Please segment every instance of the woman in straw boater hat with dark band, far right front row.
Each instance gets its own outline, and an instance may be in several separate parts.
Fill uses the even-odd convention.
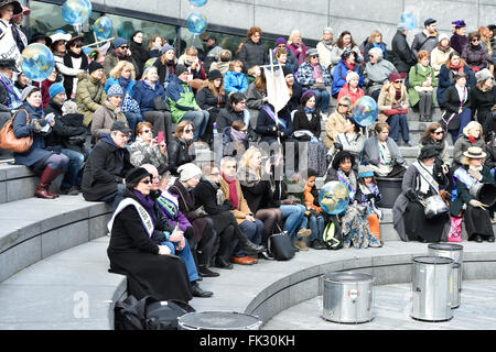
[[[490,219],[494,217],[495,210],[493,204],[496,199],[496,183],[489,168],[483,165],[487,154],[477,146],[471,146],[463,153],[463,156],[462,166],[453,174],[457,196],[450,205],[450,213],[457,217],[463,210],[463,221],[465,222],[468,241],[481,243],[485,240],[494,242]],[[485,189],[477,191],[482,184],[488,184],[493,187],[486,186]],[[461,239],[456,242],[460,241]]]

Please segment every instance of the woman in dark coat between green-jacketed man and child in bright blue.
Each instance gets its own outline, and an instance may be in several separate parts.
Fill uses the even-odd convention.
[[[204,139],[212,145],[214,138],[214,123],[220,109],[226,106],[227,96],[224,89],[223,75],[218,69],[208,73],[208,80],[205,80],[203,87],[196,94],[196,103],[209,113],[208,124],[205,130]]]

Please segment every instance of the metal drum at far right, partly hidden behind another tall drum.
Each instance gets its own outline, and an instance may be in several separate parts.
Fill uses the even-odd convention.
[[[463,245],[454,243],[431,243],[428,248],[429,255],[451,257],[454,261],[453,277],[451,278],[451,308],[460,307],[463,275]]]

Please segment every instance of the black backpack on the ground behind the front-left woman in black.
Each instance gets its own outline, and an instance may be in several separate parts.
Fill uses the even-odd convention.
[[[177,318],[196,310],[179,299],[145,296],[138,300],[130,295],[116,302],[114,311],[116,330],[177,330]]]

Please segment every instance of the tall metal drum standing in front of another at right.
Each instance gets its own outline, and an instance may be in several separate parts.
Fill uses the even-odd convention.
[[[453,260],[443,256],[413,258],[411,317],[424,321],[446,321],[451,310]]]

